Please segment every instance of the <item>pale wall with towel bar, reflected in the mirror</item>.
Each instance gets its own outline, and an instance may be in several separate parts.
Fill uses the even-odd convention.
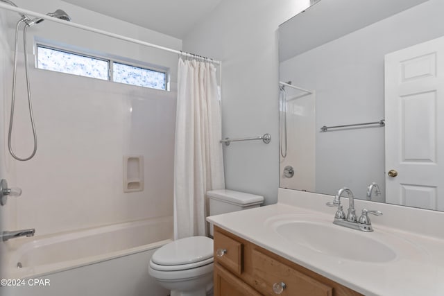
[[[384,119],[384,55],[444,35],[443,9],[430,0],[281,63],[281,80],[316,90],[316,192],[384,189],[384,128],[319,130]]]

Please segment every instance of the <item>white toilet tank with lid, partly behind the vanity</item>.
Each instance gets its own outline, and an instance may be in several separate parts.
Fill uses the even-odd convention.
[[[208,191],[207,197],[210,200],[210,216],[260,207],[264,202],[261,195],[228,189]],[[213,225],[210,225],[210,234],[213,235]]]

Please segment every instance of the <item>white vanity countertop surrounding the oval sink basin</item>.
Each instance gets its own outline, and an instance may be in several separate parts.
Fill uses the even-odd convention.
[[[280,194],[281,191],[282,189],[280,189]],[[442,236],[418,234],[418,232],[414,232],[416,229],[413,226],[413,231],[400,229],[400,227],[389,227],[384,225],[384,223],[391,221],[390,218],[386,218],[382,223],[377,223],[379,217],[372,216],[372,224],[375,231],[364,233],[364,235],[377,240],[388,238],[388,243],[395,242],[397,252],[395,259],[383,263],[374,263],[341,259],[322,254],[307,247],[291,243],[275,232],[270,225],[273,224],[273,219],[276,217],[291,218],[292,216],[300,217],[301,215],[316,217],[316,220],[332,222],[336,209],[329,209],[323,206],[325,200],[330,201],[330,197],[323,195],[320,200],[316,200],[313,203],[313,193],[300,193],[300,191],[284,193],[287,194],[287,197],[280,197],[278,204],[211,216],[207,220],[241,238],[245,238],[364,295],[444,295],[444,239]],[[295,194],[300,196],[291,196]],[[343,204],[344,208],[347,209],[348,204],[345,202]],[[360,213],[361,210],[359,206],[363,205],[368,208],[368,203],[355,200],[357,213]],[[371,205],[375,207],[375,204]],[[317,208],[318,206],[321,207]],[[415,220],[421,220],[422,216],[427,214],[427,212],[420,209],[406,210],[403,207],[386,204],[377,204],[377,207],[383,212],[384,210],[387,211],[392,216],[399,215],[398,218],[405,220],[406,223],[404,224],[407,226],[410,224],[416,225],[414,222],[418,223],[418,221]],[[412,217],[411,212],[415,213],[415,210],[418,211],[416,213],[418,215]],[[405,211],[407,211],[407,214],[410,214],[409,217],[405,216]],[[444,232],[442,230],[444,214],[436,216],[435,212],[432,212],[429,216],[434,216],[434,219],[429,221],[429,223],[440,225],[436,225],[436,229],[422,233],[429,234],[429,232],[433,233],[434,230]],[[425,219],[422,218],[422,220]],[[348,229],[347,231],[358,232],[353,229]],[[334,241],[332,241],[332,244],[334,244]],[[352,241],[350,241],[350,244],[352,244]]]

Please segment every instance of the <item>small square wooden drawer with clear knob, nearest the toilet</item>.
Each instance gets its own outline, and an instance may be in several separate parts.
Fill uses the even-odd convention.
[[[219,263],[231,272],[241,275],[244,269],[244,245],[216,230],[214,232],[214,263]]]

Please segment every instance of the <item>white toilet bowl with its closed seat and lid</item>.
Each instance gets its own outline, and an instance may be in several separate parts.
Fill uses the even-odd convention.
[[[168,243],[153,254],[148,272],[171,296],[205,296],[212,288],[213,240],[191,236]]]

